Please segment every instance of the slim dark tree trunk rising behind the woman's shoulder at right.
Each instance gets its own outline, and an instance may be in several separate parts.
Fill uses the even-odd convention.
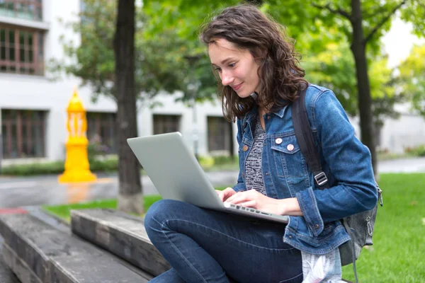
[[[375,172],[375,175],[378,175],[375,142],[373,138],[373,119],[371,108],[372,97],[370,96],[368,62],[366,60],[360,0],[351,0],[351,15],[353,25],[351,51],[353,52],[354,60],[356,62],[361,141],[365,144],[365,146],[368,146],[370,154],[372,155],[373,171]]]

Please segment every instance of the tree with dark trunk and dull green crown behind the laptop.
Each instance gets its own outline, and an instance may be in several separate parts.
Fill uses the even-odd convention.
[[[133,2],[120,0],[117,5],[117,1],[84,0],[81,21],[66,23],[81,35],[81,44],[62,38],[67,59],[53,59],[49,67],[53,74],[65,72],[81,78],[82,85],[94,91],[93,100],[109,96],[117,102],[118,209],[142,212],[140,166],[126,142],[128,137],[137,136],[136,98],[152,106],[159,91],[178,90],[183,91],[179,99],[191,99],[188,88],[193,81],[188,76],[190,62],[185,58],[194,50],[202,52],[182,40],[172,26],[149,33],[149,22],[160,21],[160,17],[149,9],[145,9],[147,13],[136,10]],[[197,100],[212,99],[216,85],[203,55],[192,64],[193,78],[200,86]]]

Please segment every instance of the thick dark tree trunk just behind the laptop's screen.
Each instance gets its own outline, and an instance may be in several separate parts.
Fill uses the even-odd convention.
[[[140,165],[127,144],[137,137],[135,92],[135,0],[118,0],[115,38],[115,96],[118,101],[118,209],[143,213]]]

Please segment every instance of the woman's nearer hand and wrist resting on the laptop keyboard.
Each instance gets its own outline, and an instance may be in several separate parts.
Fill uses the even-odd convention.
[[[247,190],[235,193],[232,197],[227,198],[226,202],[272,214],[302,216],[300,205],[295,197],[276,200],[256,190]]]

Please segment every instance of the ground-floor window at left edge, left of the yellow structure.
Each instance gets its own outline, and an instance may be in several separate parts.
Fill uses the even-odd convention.
[[[45,156],[45,111],[1,110],[3,158]]]

